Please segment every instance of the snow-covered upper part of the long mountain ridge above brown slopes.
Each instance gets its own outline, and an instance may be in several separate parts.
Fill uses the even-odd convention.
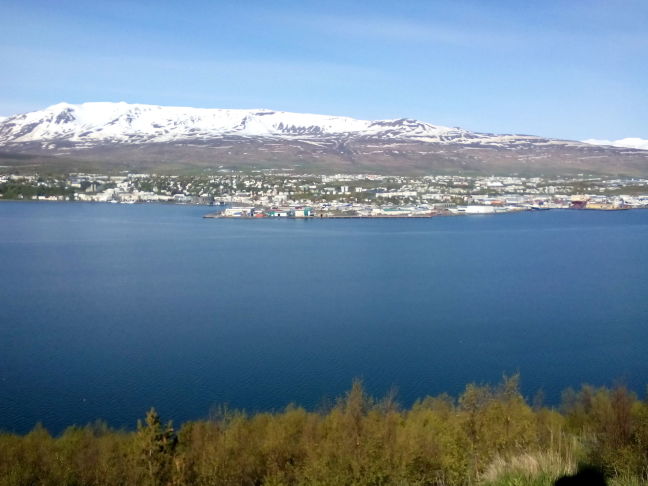
[[[59,103],[0,121],[0,144],[24,142],[164,143],[224,136],[280,139],[376,138],[432,143],[542,143],[539,137],[477,134],[411,120],[271,110],[225,110],[127,103]]]

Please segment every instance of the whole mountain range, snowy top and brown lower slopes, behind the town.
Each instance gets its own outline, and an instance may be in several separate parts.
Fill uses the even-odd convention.
[[[476,133],[407,118],[367,121],[271,110],[60,103],[0,118],[0,165],[647,175],[648,150]]]

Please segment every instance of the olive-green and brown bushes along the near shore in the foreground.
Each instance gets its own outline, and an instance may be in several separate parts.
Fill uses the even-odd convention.
[[[248,416],[218,409],[174,431],[155,409],[133,432],[0,434],[0,486],[548,486],[579,463],[613,486],[648,481],[648,403],[624,387],[568,390],[532,408],[519,377],[401,409],[360,381],[334,406]]]

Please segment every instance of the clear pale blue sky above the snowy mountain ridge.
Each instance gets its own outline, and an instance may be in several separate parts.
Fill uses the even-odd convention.
[[[648,1],[0,3],[0,115],[67,101],[648,138]]]

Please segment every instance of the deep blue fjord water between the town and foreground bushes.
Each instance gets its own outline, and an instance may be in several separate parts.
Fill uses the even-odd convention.
[[[0,203],[0,428],[648,382],[648,211],[204,220]]]

